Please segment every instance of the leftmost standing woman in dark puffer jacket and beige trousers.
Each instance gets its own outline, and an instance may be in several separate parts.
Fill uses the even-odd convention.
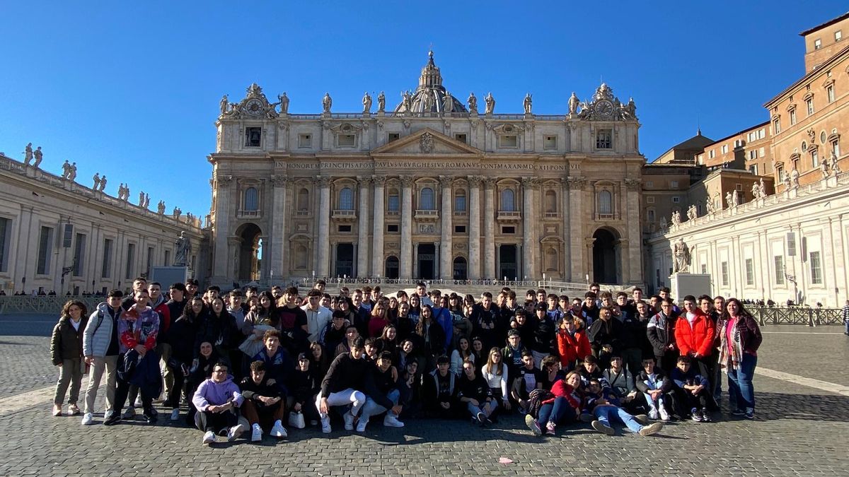
[[[83,351],[82,336],[88,323],[86,305],[80,300],[68,300],[62,306],[59,323],[53,327],[50,338],[50,359],[53,366],[59,367],[59,380],[53,392],[53,416],[62,415],[62,401],[70,384],[68,395],[68,413],[71,416],[80,414],[76,402],[80,398],[82,383]]]

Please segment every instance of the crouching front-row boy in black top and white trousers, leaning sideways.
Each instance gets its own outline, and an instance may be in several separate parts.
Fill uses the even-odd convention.
[[[333,406],[351,406],[351,410],[346,410],[342,417],[345,418],[345,429],[354,429],[354,420],[366,401],[362,389],[368,372],[368,361],[363,359],[363,351],[365,343],[363,338],[359,337],[351,344],[350,352],[336,356],[330,363],[321,384],[321,392],[316,399],[324,434],[329,434],[332,430],[328,412]]]

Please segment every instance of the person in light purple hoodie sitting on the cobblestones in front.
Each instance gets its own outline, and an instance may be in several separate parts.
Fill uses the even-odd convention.
[[[233,383],[227,363],[216,362],[212,377],[200,383],[192,397],[192,404],[198,410],[194,424],[204,431],[203,444],[215,442],[216,434],[226,433],[227,440],[234,441],[245,432],[246,426],[239,423],[236,413],[243,401],[245,398]]]

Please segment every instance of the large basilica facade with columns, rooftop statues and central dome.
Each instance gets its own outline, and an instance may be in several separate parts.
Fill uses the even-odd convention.
[[[387,89],[394,90],[390,85]],[[392,109],[292,114],[251,85],[216,122],[212,282],[528,278],[642,283],[639,122],[602,84],[569,110],[460,101],[432,53]],[[318,105],[318,100],[317,100]],[[376,111],[373,110],[376,106]]]

